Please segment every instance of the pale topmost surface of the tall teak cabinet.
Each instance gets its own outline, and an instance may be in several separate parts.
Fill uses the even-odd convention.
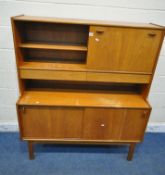
[[[15,21],[31,21],[31,22],[47,22],[47,23],[86,24],[86,25],[164,29],[163,26],[159,26],[156,24],[116,22],[116,21],[106,21],[106,20],[87,20],[87,19],[76,19],[76,18],[34,17],[34,16],[20,15],[20,16],[15,16],[12,19]]]

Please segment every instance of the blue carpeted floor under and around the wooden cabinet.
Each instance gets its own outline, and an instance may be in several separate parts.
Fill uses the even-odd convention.
[[[147,133],[127,161],[127,146],[35,145],[35,160],[18,133],[0,133],[0,175],[165,175],[165,133]]]

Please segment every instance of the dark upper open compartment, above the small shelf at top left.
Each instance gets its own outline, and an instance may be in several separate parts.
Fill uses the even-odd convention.
[[[21,43],[87,46],[89,26],[16,21]]]

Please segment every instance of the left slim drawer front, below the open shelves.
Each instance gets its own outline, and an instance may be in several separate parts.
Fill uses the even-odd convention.
[[[42,79],[42,80],[86,80],[86,72],[81,71],[61,71],[61,70],[34,70],[20,69],[22,79]]]

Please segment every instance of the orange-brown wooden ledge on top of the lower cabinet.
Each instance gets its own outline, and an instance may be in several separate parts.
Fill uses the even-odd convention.
[[[30,106],[150,108],[149,104],[142,96],[136,94],[68,91],[25,91],[19,99],[18,104]]]

